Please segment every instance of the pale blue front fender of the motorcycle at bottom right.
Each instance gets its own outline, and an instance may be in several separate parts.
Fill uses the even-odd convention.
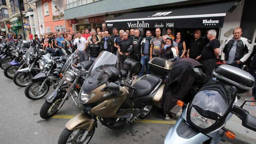
[[[165,144],[200,144],[210,139],[208,136],[193,129],[184,122],[181,118],[177,120],[174,127],[172,127],[164,140]]]

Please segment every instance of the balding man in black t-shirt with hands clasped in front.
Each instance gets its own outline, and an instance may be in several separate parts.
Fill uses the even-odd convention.
[[[120,46],[120,48],[118,48],[118,53],[119,53],[119,67],[120,70],[124,69],[124,61],[127,59],[127,57],[129,56],[130,52],[127,51],[127,49],[129,47],[132,47],[132,40],[128,39],[128,34],[126,32],[123,33],[123,39],[120,40],[117,44],[118,46]]]

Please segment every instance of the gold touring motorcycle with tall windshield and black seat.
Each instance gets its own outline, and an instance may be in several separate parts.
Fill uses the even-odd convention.
[[[164,67],[157,65],[159,60]],[[87,144],[97,127],[97,120],[110,129],[122,129],[127,122],[147,117],[152,106],[160,106],[163,79],[173,62],[152,59],[149,64],[155,74],[140,77],[131,85],[130,79],[122,80],[122,72],[115,67],[116,61],[114,54],[103,51],[90,67],[79,93],[83,113],[67,122],[58,144]],[[133,66],[129,60],[124,65],[126,70],[134,69]],[[77,68],[80,67],[78,64]]]

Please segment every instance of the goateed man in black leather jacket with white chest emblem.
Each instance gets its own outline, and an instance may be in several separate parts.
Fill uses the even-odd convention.
[[[140,31],[136,29],[134,31],[134,37],[132,38],[132,59],[134,61],[141,61],[141,41],[143,40],[143,37],[140,36]]]

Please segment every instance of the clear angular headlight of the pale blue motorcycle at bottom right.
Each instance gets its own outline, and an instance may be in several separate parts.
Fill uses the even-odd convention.
[[[216,122],[216,120],[211,120],[209,118],[203,117],[193,107],[190,112],[190,119],[195,125],[203,129],[210,127]]]

